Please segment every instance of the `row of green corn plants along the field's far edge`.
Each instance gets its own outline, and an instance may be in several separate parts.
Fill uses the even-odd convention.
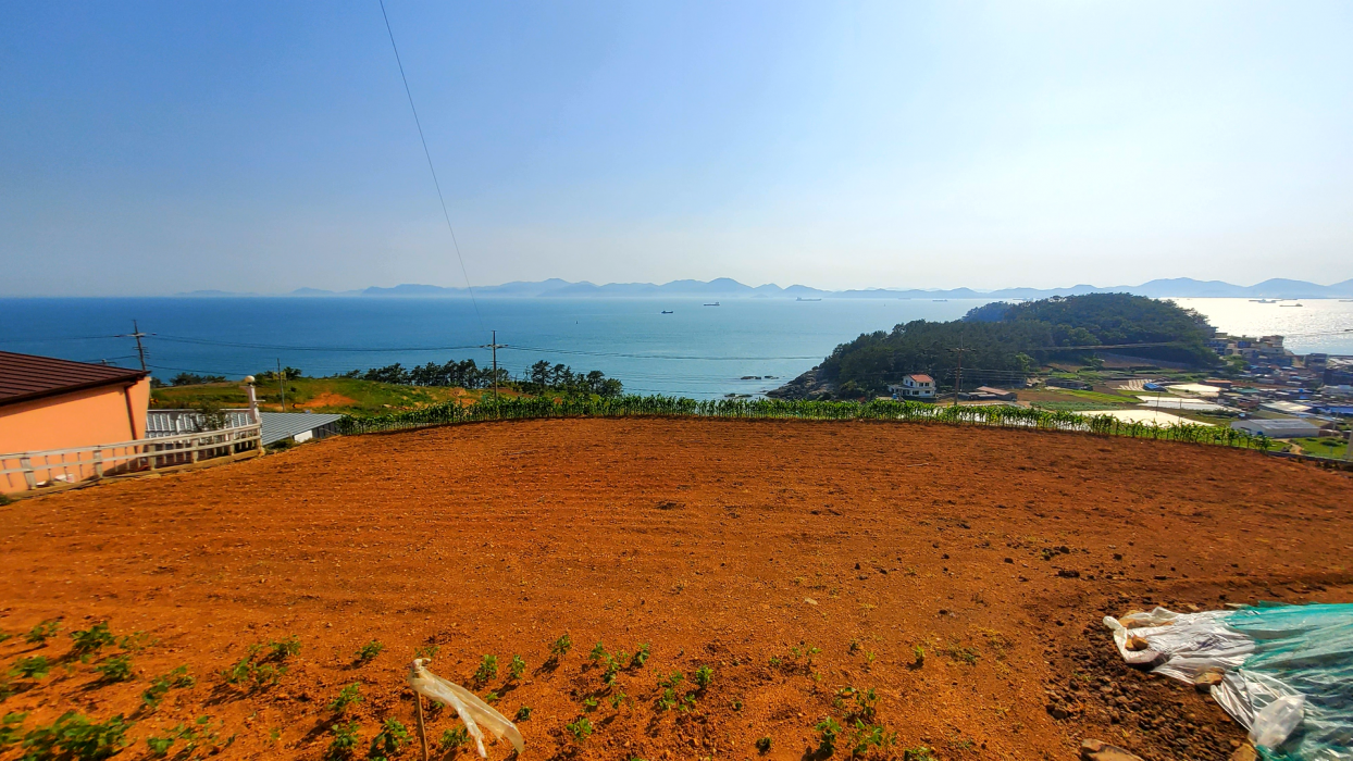
[[[1030,407],[954,407],[920,401],[796,401],[781,399],[686,399],[679,396],[598,397],[513,397],[480,401],[469,407],[438,404],[375,418],[344,418],[345,434],[398,431],[426,426],[484,420],[529,420],[540,418],[626,418],[694,416],[790,420],[894,420],[946,423],[999,428],[1082,431],[1099,435],[1150,438],[1188,443],[1208,443],[1266,450],[1265,437],[1254,437],[1229,426],[1200,423],[1155,423],[1120,420],[1112,415],[1081,415]]]

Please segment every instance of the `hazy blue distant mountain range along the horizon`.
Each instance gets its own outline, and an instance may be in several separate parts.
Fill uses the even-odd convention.
[[[1272,278],[1256,285],[1231,285],[1220,280],[1193,280],[1173,277],[1151,280],[1141,285],[1115,285],[1099,288],[1095,285],[1073,285],[1070,288],[1001,288],[999,291],[973,291],[954,288],[948,291],[927,291],[920,288],[875,288],[865,291],[821,291],[806,285],[781,288],[775,284],[744,285],[728,277],[710,281],[674,280],[655,285],[652,283],[568,283],[551,278],[534,283],[513,281],[502,285],[482,285],[475,288],[476,296],[536,297],[659,297],[659,296],[700,296],[700,297],[763,297],[763,299],[1047,299],[1049,296],[1077,296],[1081,293],[1137,293],[1151,297],[1180,299],[1353,299],[1353,280],[1319,285],[1303,280]],[[441,285],[395,285],[394,288],[363,288],[359,291],[321,291],[318,288],[298,288],[287,296],[465,296],[464,288],[442,288]],[[254,296],[254,293],[230,293],[225,291],[193,291],[179,296]]]

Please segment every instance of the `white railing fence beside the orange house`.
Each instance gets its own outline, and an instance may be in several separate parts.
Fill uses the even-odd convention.
[[[0,454],[0,492],[37,491],[254,451],[260,437],[261,426],[252,423],[153,439]]]

